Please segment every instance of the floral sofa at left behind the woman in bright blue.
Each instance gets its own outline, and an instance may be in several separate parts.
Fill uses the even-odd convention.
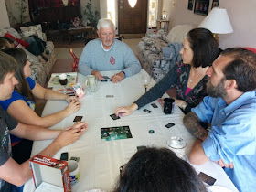
[[[33,55],[32,53],[24,49],[27,53],[27,59],[31,62],[31,65],[30,65],[31,78],[33,80],[36,80],[37,83],[40,84],[41,86],[45,86],[47,80],[50,78],[50,71],[56,61],[56,55],[54,53],[54,45],[52,41],[47,41],[46,35],[42,32],[41,25],[31,26],[31,27],[21,27],[21,33],[18,33],[16,29],[12,27],[0,29],[0,37],[4,37],[5,33],[9,33],[16,38],[36,35],[37,37],[41,38],[46,42],[45,52],[49,55],[49,58],[46,64],[41,63],[37,58],[37,56]]]

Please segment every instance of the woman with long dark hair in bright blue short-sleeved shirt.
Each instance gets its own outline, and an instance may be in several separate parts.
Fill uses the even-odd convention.
[[[70,114],[80,109],[80,101],[76,97],[70,97],[57,91],[51,91],[41,87],[37,82],[29,78],[31,75],[30,62],[27,60],[26,53],[21,48],[5,48],[2,50],[14,57],[18,63],[16,71],[15,86],[11,98],[0,101],[0,105],[16,121],[20,123],[33,124],[42,127],[49,127],[59,123]],[[64,100],[69,105],[60,112],[55,112],[44,117],[39,117],[35,110],[36,98],[45,100]],[[30,157],[32,142],[12,136],[13,155],[18,163],[26,161]]]

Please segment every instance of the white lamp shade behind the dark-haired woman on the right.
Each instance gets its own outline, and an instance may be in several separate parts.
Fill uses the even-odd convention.
[[[217,34],[227,34],[233,32],[227,10],[218,7],[213,8],[198,27],[207,28],[212,33]]]

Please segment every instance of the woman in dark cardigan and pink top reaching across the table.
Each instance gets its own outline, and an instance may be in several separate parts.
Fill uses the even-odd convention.
[[[192,107],[196,107],[207,95],[206,71],[219,55],[218,41],[208,29],[192,29],[183,41],[180,54],[182,61],[176,62],[162,80],[131,106],[117,108],[115,114],[121,112],[122,116],[129,115],[162,97],[173,86],[176,86],[176,105],[183,112],[190,112]]]

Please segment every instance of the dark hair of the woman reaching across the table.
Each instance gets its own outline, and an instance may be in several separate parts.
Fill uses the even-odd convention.
[[[194,28],[187,33],[187,40],[194,52],[193,67],[211,66],[219,56],[219,43],[206,28]]]

